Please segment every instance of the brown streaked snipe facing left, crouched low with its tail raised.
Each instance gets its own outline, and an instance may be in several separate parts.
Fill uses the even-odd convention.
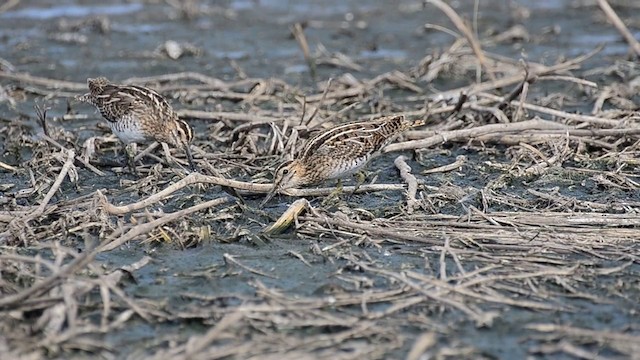
[[[424,120],[408,121],[404,115],[396,115],[339,125],[318,134],[294,160],[276,169],[273,188],[262,206],[283,190],[355,174],[380,154],[393,137],[424,123]]]

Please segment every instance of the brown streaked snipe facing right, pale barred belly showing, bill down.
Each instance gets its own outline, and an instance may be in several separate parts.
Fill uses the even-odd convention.
[[[151,140],[182,147],[191,170],[195,171],[189,148],[193,130],[186,121],[178,118],[162,95],[142,86],[112,84],[105,77],[89,78],[87,85],[89,92],[76,96],[76,100],[98,108],[111,131],[125,144],[128,164],[133,172],[136,143]]]

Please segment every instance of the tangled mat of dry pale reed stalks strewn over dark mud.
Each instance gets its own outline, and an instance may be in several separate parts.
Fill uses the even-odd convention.
[[[625,105],[632,94],[613,83],[600,87],[580,78],[576,70],[599,49],[551,66],[523,66],[482,50],[451,8],[431,2],[455,19],[466,42],[456,40],[405,72],[361,81],[347,72],[304,95],[278,79],[227,82],[189,72],[125,80],[154,85],[174,102],[205,109],[180,112],[210,124],[211,131],[194,143],[200,174],[163,165],[151,149],[141,155],[146,163],[140,167],[141,179],[124,176],[120,186],[110,189],[78,189],[95,175],[123,174],[119,165],[100,160],[117,145],[111,137],[96,136],[82,146],[62,126],[77,115],[48,120],[42,110],[37,136],[18,120],[4,125],[10,135],[6,148],[30,149],[33,156],[20,166],[0,163],[25,185],[3,184],[10,200],[0,211],[0,352],[25,359],[77,352],[117,357],[118,349],[100,335],[141,319],[149,324],[198,322],[208,330],[189,339],[160,338],[131,358],[363,359],[399,357],[402,349],[410,349],[407,359],[423,354],[482,358],[481,350],[455,340],[454,325],[442,314],[490,328],[505,309],[567,314],[578,310],[568,299],[583,299],[626,304],[630,316],[637,316],[639,292],[626,283],[640,263],[640,199],[633,195],[640,187],[640,116]],[[330,61],[323,60],[326,53],[310,54],[300,24],[293,32],[310,68],[357,65],[343,54]],[[637,51],[637,44],[631,45]],[[478,68],[491,69],[491,78],[433,94],[421,86]],[[10,71],[0,71],[0,78],[29,87],[38,97],[70,97],[85,88]],[[544,98],[531,100],[531,92],[546,82],[569,85],[598,106],[586,115],[559,110]],[[513,91],[504,90],[509,86]],[[379,99],[386,89],[401,89],[402,95]],[[241,102],[245,110],[209,111],[206,104],[213,99]],[[386,215],[366,206],[339,205],[336,210],[301,201],[270,226],[274,214],[255,208],[255,194],[270,188],[268,170],[294,153],[312,130],[349,117],[394,113],[428,113],[430,122],[385,149],[417,151],[418,163],[404,155],[395,158],[402,183],[358,189],[368,196],[379,192],[381,198],[402,192],[404,200]],[[423,166],[420,159],[436,153],[430,149],[451,144],[493,159],[480,163],[460,155],[451,164]],[[457,185],[455,179],[465,171],[490,180]],[[566,191],[580,184],[600,194]],[[210,198],[207,192],[218,186],[232,196]],[[345,193],[353,190],[344,188]],[[318,197],[331,191],[293,189],[286,195]],[[197,220],[188,216],[196,213]],[[225,267],[252,274],[248,284],[255,295],[228,302],[227,295],[184,293],[187,305],[172,307],[122,289],[150,258],[117,269],[95,260],[141,240],[198,246],[211,237],[201,225],[222,218],[232,225],[214,232],[231,238],[245,234],[241,223],[246,218],[267,229],[250,233],[255,241],[293,227],[296,241],[312,245],[308,253],[288,254],[310,268],[322,266],[318,257],[342,263],[335,277],[349,286],[326,288],[317,296],[280,292],[259,280],[278,276],[225,254]],[[318,239],[324,239],[322,246]],[[374,259],[367,248],[419,258],[424,266]],[[620,283],[610,284],[616,276]],[[408,335],[404,330],[409,327],[420,333]],[[640,352],[637,328],[526,327],[544,338],[530,348],[542,356],[560,352],[587,358],[604,349],[633,357]]]

